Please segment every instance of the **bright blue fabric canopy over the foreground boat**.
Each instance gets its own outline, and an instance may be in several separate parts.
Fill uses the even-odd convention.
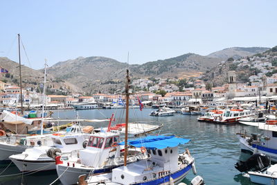
[[[175,136],[146,136],[143,139],[128,141],[129,145],[135,147],[145,147],[150,150],[163,149],[167,147],[175,147],[188,143],[190,139],[178,138]],[[124,142],[119,143],[124,145]]]

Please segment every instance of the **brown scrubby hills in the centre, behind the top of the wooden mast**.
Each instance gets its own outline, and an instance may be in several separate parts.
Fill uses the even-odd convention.
[[[178,78],[199,76],[201,72],[215,67],[219,59],[188,53],[176,58],[157,60],[145,64],[129,65],[133,78]],[[111,58],[89,57],[58,62],[48,69],[55,78],[71,82],[84,91],[114,92],[123,88],[126,63]]]

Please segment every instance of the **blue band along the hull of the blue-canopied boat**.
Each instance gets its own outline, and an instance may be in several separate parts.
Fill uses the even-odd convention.
[[[166,175],[165,177],[155,179],[155,180],[152,180],[150,182],[139,183],[139,184],[136,184],[136,185],[163,184],[165,182],[169,182],[170,177],[172,177],[173,179],[177,179],[178,177],[181,177],[181,175],[184,175],[184,173],[188,172],[188,170],[190,170],[190,169],[191,169],[191,164],[189,166],[187,166],[186,168],[177,171],[176,173],[172,173],[170,175]]]

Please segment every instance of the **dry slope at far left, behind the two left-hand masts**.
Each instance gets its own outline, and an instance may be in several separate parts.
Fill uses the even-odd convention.
[[[19,85],[19,64],[17,62],[8,58],[0,58],[0,67],[8,70],[7,74],[2,74],[2,81]],[[21,76],[23,87],[33,87],[36,89],[44,81],[44,72],[24,65],[21,66]],[[75,85],[71,85],[69,82],[64,82],[51,75],[47,76],[47,82],[48,87],[55,89],[78,89]]]

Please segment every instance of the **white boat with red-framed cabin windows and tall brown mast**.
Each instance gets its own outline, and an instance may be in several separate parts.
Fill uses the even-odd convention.
[[[113,168],[150,157],[145,148],[128,150],[127,145],[124,149],[118,145],[120,139],[119,127],[125,126],[125,141],[127,141],[130,81],[128,69],[126,81],[125,123],[111,127],[112,116],[107,131],[102,130],[102,132],[91,134],[85,150],[80,150],[78,155],[71,155],[68,159],[56,157],[57,175],[62,184],[75,184],[80,175],[110,173]],[[121,155],[121,151],[124,151],[124,155]]]

